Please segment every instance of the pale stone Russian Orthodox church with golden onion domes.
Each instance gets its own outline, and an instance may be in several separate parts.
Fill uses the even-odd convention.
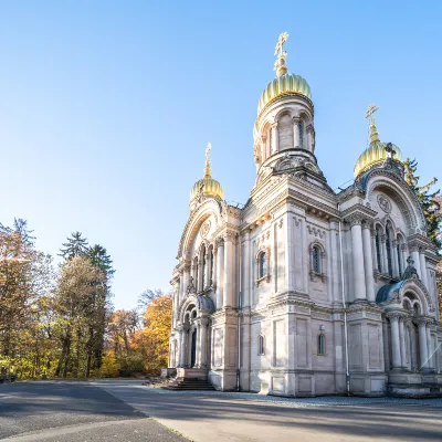
[[[436,394],[436,250],[399,147],[370,144],[336,193],[315,156],[311,88],[285,64],[261,94],[243,208],[212,177],[190,193],[173,270],[169,368],[219,390]]]

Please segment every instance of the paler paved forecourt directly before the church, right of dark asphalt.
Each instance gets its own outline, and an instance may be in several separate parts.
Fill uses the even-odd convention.
[[[196,442],[442,441],[442,399],[277,402],[256,394],[155,391],[137,382],[97,385]]]

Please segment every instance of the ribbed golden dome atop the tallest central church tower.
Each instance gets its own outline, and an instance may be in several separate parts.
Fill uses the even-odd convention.
[[[257,115],[261,114],[261,110],[266,104],[285,94],[301,94],[312,99],[311,86],[308,86],[308,83],[299,75],[285,73],[272,80],[261,94],[257,104]]]

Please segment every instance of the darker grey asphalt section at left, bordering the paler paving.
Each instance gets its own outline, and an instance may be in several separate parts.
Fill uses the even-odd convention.
[[[185,441],[146,413],[83,382],[0,385],[0,440]]]

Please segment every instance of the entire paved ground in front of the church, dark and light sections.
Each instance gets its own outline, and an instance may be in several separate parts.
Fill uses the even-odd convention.
[[[442,399],[293,400],[172,392],[124,380],[23,382],[0,386],[0,440],[440,442]]]

